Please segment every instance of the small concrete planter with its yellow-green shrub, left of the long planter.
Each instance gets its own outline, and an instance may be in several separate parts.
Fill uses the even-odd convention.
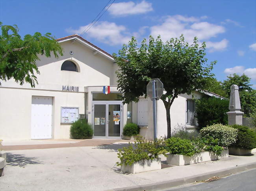
[[[120,162],[121,171],[129,173],[141,173],[161,169],[161,158],[165,155],[163,140],[147,141],[142,136],[136,138],[134,144],[129,143],[128,147],[118,150],[117,156]]]

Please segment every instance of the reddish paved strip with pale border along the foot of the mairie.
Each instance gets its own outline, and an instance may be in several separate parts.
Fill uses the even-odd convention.
[[[27,149],[88,147],[88,146],[109,145],[115,142],[129,142],[129,140],[123,140],[123,139],[85,139],[85,140],[59,139],[59,140],[56,140],[56,139],[52,139],[52,140],[26,140],[26,141],[20,140],[20,141],[14,141],[14,142],[17,145],[13,145],[11,141],[8,141],[7,143],[3,142],[3,146],[0,146],[0,148],[4,151],[14,151],[14,150],[27,150]],[[55,143],[55,142],[58,142],[58,143]]]

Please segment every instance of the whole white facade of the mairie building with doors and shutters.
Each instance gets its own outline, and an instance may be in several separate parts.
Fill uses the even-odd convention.
[[[77,35],[58,42],[63,56],[40,57],[35,88],[1,81],[0,139],[70,138],[70,125],[78,118],[87,118],[93,125],[93,138],[122,138],[124,125],[134,122],[141,127],[141,135],[152,139],[152,101],[140,98],[138,103],[122,104],[113,57]],[[202,93],[194,96],[200,98]],[[171,126],[194,128],[194,107],[192,96],[178,96],[171,106]],[[158,136],[167,135],[161,100],[157,121]]]

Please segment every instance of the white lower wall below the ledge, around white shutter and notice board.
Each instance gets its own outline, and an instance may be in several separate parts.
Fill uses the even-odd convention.
[[[70,125],[61,125],[61,107],[79,107],[84,113],[84,93],[0,88],[0,138],[20,140],[31,138],[32,96],[53,97],[52,138],[69,138]]]

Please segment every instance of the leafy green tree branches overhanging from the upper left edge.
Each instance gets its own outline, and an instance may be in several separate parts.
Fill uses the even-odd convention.
[[[22,39],[17,25],[2,25],[0,22],[0,27],[0,80],[14,78],[20,85],[28,82],[35,87],[37,77],[34,72],[39,74],[36,65],[38,56],[50,57],[53,53],[58,58],[58,54],[63,55],[61,46],[50,36],[51,33],[41,35],[36,32]]]

